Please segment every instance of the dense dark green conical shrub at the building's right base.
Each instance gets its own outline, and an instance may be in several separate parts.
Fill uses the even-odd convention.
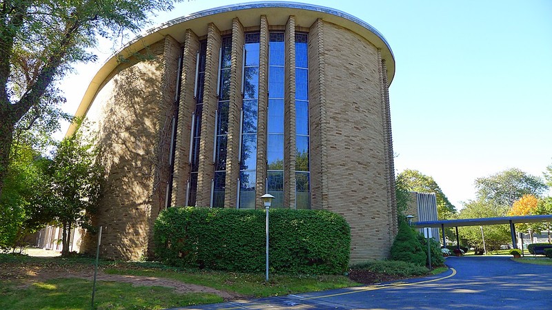
[[[417,240],[416,233],[408,227],[408,224],[401,221],[399,231],[391,247],[391,260],[402,260],[412,262],[415,265],[425,266],[426,255],[422,249],[420,241]]]

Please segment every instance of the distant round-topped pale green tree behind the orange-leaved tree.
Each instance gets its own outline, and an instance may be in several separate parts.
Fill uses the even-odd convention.
[[[477,200],[511,207],[515,200],[531,194],[539,197],[548,187],[537,176],[512,168],[492,176],[475,179]]]

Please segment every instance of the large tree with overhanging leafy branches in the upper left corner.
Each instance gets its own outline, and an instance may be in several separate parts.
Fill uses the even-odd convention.
[[[178,1],[178,0],[177,0]],[[153,10],[172,0],[3,0],[0,6],[0,195],[8,173],[16,124],[31,123],[59,98],[55,81],[75,62],[94,61],[87,51],[99,36],[141,30]],[[32,121],[34,119],[34,121]]]

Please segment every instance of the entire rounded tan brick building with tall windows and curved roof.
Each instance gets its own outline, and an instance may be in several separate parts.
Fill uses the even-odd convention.
[[[342,214],[352,263],[387,258],[397,231],[394,72],[377,30],[301,3],[215,8],[135,39],[77,111],[106,167],[94,217],[101,254],[149,254],[166,207],[255,209],[268,193],[272,207]],[[93,251],[94,238],[81,249]]]

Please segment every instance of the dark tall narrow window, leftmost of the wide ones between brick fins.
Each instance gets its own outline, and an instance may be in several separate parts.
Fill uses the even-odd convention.
[[[205,85],[205,59],[207,41],[199,42],[199,57],[197,57],[197,83],[195,85],[195,112],[193,114],[192,143],[190,147],[190,184],[188,189],[188,205],[195,205],[197,197],[197,168],[199,167],[199,140],[201,138],[201,114],[203,114],[203,90]]]

